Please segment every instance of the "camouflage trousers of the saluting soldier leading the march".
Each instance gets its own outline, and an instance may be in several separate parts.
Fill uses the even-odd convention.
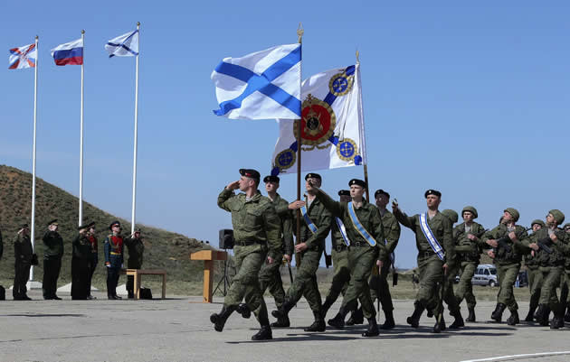
[[[240,249],[240,246],[236,246],[234,249],[233,260],[237,274],[233,276],[232,285],[225,295],[223,304],[237,307],[245,299],[245,303],[253,311],[258,321],[260,316],[261,319],[267,320],[267,306],[263,300],[259,282],[260,269],[261,265],[266,262],[267,250],[242,252]]]

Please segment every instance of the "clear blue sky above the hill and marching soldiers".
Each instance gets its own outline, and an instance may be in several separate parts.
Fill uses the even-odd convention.
[[[303,77],[355,62],[360,51],[369,180],[404,211],[423,191],[442,208],[473,205],[485,227],[515,207],[520,222],[567,208],[570,172],[570,5],[467,2],[3,2],[0,163],[32,170],[33,70],[7,70],[8,49],[40,36],[37,174],[79,193],[80,67],[50,49],[85,29],[84,199],[130,218],[134,58],[103,45],[141,22],[138,222],[210,240],[231,226],[216,206],[242,167],[271,169],[272,120],[214,116],[210,74],[224,57],[297,41]],[[320,172],[330,193],[361,167]],[[296,176],[281,195],[296,195]],[[53,215],[57,217],[57,215]],[[570,219],[570,215],[569,215]],[[404,231],[396,264],[415,265]]]

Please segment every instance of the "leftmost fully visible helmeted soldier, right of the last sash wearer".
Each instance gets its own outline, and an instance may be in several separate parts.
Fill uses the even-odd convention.
[[[473,221],[478,217],[477,209],[466,206],[461,210],[463,222],[453,229],[457,245],[455,252],[460,260],[460,281],[455,288],[455,298],[458,305],[465,300],[469,315],[467,321],[475,321],[475,305],[477,300],[473,294],[471,279],[479,265],[483,242],[481,237],[485,234],[485,228]]]

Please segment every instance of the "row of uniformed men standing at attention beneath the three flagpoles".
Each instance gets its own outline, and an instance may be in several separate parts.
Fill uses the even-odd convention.
[[[59,223],[53,219],[47,224],[43,235],[43,299],[62,300],[57,296],[57,281],[62,269],[63,238],[58,232]],[[109,236],[105,238],[103,253],[104,265],[107,269],[107,296],[111,300],[119,300],[117,284],[119,274],[124,267],[124,246],[128,248],[128,268],[140,269],[145,250],[142,230],[137,228],[129,237],[121,236],[119,221],[113,221],[109,226]],[[98,239],[95,235],[95,223],[78,227],[78,235],[71,243],[71,299],[97,299],[91,295],[91,280],[99,263]],[[0,258],[4,251],[2,234],[0,233]],[[32,241],[28,224],[20,226],[14,237],[14,301],[31,301],[27,295],[26,283],[30,277],[30,268],[38,265],[38,257],[33,253]],[[128,275],[128,298],[134,298],[134,280]]]

